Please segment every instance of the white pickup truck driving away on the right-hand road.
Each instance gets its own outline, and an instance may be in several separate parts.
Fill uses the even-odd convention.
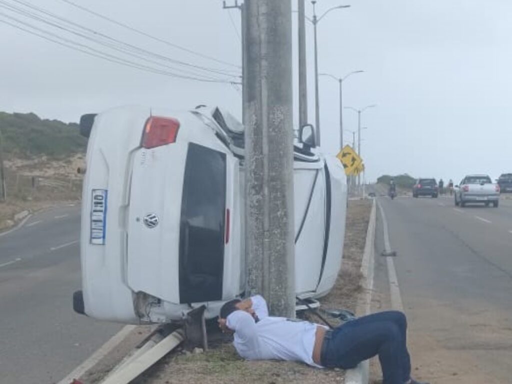
[[[487,175],[468,175],[455,186],[455,205],[467,203],[493,204],[496,208],[500,201],[500,186],[494,184]]]

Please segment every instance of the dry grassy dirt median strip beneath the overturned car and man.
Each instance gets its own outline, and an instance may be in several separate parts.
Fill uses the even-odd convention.
[[[345,234],[344,261],[333,290],[322,298],[323,308],[355,310],[361,291],[360,265],[365,247],[371,201],[350,201]],[[317,319],[314,319],[317,321]],[[334,323],[334,321],[333,321]],[[245,361],[231,343],[211,343],[206,353],[166,356],[160,364],[136,379],[134,384],[284,384],[300,382],[343,383],[340,369],[312,369],[305,364],[284,361]]]

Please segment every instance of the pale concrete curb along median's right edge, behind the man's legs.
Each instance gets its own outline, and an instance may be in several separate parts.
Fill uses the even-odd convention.
[[[363,291],[357,298],[356,314],[358,316],[370,313],[373,291],[373,266],[375,256],[375,225],[376,225],[376,200],[373,199],[368,231],[366,233],[365,251],[361,262],[363,276]],[[368,384],[370,380],[370,361],[361,362],[356,368],[348,369],[345,373],[345,384]]]

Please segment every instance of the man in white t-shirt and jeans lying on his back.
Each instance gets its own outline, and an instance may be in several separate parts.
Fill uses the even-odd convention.
[[[317,368],[354,368],[378,355],[383,384],[422,384],[411,378],[406,316],[397,311],[357,318],[334,330],[268,315],[265,299],[235,299],[221,308],[219,327],[248,360],[303,361]],[[428,383],[423,383],[428,384]]]

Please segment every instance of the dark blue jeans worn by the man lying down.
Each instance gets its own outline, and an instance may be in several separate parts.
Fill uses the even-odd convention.
[[[383,384],[403,384],[411,378],[407,319],[402,312],[374,313],[327,332],[321,361],[324,367],[349,369],[376,355]]]

